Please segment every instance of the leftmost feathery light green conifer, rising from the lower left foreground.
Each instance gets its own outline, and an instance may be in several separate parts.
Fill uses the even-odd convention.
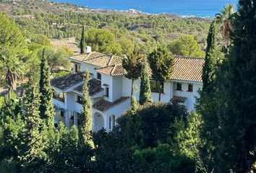
[[[41,161],[46,159],[46,154],[43,152],[43,136],[40,133],[43,128],[43,121],[39,115],[40,94],[37,84],[36,81],[30,79],[28,89],[25,92],[24,110],[27,132],[25,133],[24,141],[26,151],[22,156],[22,162],[27,171],[38,170]]]

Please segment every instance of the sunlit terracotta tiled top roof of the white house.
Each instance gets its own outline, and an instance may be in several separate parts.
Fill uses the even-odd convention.
[[[108,56],[103,53],[91,52],[82,55],[72,56],[69,59],[82,61],[99,66],[98,72],[111,76],[119,76],[126,73],[121,66],[122,58],[119,56]],[[202,81],[202,66],[205,63],[204,58],[190,58],[184,56],[175,56],[174,72],[171,75],[173,80],[183,81]],[[148,66],[148,74],[152,71]]]

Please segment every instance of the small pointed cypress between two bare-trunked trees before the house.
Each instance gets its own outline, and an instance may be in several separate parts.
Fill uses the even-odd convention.
[[[144,105],[147,102],[152,102],[151,89],[150,89],[150,79],[148,77],[148,63],[147,58],[144,58],[142,73],[140,77],[140,105]]]

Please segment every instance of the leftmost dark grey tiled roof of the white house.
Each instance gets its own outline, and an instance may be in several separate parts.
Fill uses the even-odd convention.
[[[66,90],[70,87],[79,84],[83,80],[83,73],[77,73],[77,74],[70,74],[67,76],[62,76],[59,78],[55,78],[51,80],[51,86],[54,86],[57,89],[60,90]]]

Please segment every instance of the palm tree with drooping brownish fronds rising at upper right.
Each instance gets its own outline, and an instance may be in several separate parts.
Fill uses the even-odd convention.
[[[234,17],[234,4],[224,6],[220,13],[216,14],[216,22],[221,25],[221,35],[226,42],[226,48],[230,43],[230,33],[232,32],[231,21]]]

